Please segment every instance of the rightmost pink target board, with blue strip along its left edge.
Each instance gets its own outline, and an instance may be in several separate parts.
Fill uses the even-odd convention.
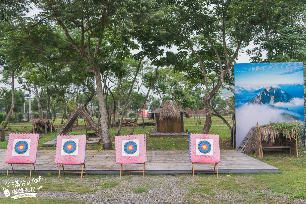
[[[190,161],[220,163],[219,135],[189,134]]]

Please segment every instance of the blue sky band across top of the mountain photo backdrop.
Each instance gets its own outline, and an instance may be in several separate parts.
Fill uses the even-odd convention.
[[[235,64],[235,84],[304,83],[303,62]]]

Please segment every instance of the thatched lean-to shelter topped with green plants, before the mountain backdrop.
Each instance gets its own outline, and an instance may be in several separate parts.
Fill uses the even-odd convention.
[[[301,145],[300,123],[272,123],[253,127],[254,131],[249,136],[249,143],[245,152],[253,154],[254,152],[263,157],[264,150],[285,150],[286,148],[292,150],[298,156],[298,147]]]

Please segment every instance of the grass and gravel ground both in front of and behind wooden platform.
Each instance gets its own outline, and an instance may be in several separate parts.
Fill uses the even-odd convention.
[[[231,121],[230,118],[226,118]],[[184,119],[185,129],[189,132],[201,133],[202,125],[195,124],[196,119]],[[29,132],[31,127],[11,126],[11,132]],[[83,128],[83,129],[82,129]],[[154,131],[154,126],[136,127],[134,134]],[[122,135],[129,134],[131,128],[123,128]],[[114,135],[117,128],[110,129],[111,140],[114,142]],[[9,134],[10,132],[6,132]],[[69,134],[85,134],[85,127],[80,125],[73,128]],[[232,149],[230,147],[230,131],[220,119],[213,118],[211,134],[220,136],[221,149]],[[56,132],[43,135],[39,139],[39,149],[55,149],[54,147],[42,147],[42,143],[56,137]],[[0,143],[0,149],[6,149],[7,142]],[[114,147],[114,144],[113,144]],[[101,150],[102,144],[88,146],[87,149]],[[179,137],[148,137],[147,149],[154,150],[188,150],[188,138]],[[57,174],[42,175],[43,180],[40,195],[37,198],[21,198],[13,200],[0,194],[1,203],[94,203],[89,195],[99,195],[100,203],[112,203],[119,195],[127,193],[131,203],[150,203],[155,191],[164,192],[165,195],[158,194],[156,199],[162,200],[160,203],[306,203],[306,156],[302,153],[299,158],[287,153],[264,152],[264,158],[257,158],[280,169],[279,174],[259,173],[259,174],[219,174],[217,179],[211,174],[197,174],[193,179],[191,175],[184,174],[178,176],[170,175],[146,175],[142,179],[141,175],[125,174],[120,180],[118,175],[88,175],[80,180],[79,175],[65,175],[61,179]],[[252,156],[252,155],[251,155]],[[255,156],[253,156],[255,157]],[[6,181],[25,180],[26,175],[12,175],[6,179],[6,174],[0,174],[0,186],[3,187]],[[37,176],[34,175],[36,178]],[[129,185],[131,182],[133,185]],[[134,183],[136,183],[134,185]],[[175,191],[172,191],[172,184]],[[50,192],[50,195],[48,194]],[[47,193],[47,194],[46,194]],[[52,197],[51,194],[60,193],[66,195],[65,198]],[[46,194],[46,195],[45,195]],[[76,195],[78,199],[71,196]],[[148,202],[141,202],[138,196],[147,198]],[[171,196],[179,200],[171,201]],[[127,203],[119,200],[116,203]],[[154,198],[155,199],[155,198]],[[174,198],[173,198],[174,199]]]

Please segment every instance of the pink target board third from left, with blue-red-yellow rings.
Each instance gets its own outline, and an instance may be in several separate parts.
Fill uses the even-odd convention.
[[[141,164],[147,162],[146,135],[115,136],[116,163]]]

